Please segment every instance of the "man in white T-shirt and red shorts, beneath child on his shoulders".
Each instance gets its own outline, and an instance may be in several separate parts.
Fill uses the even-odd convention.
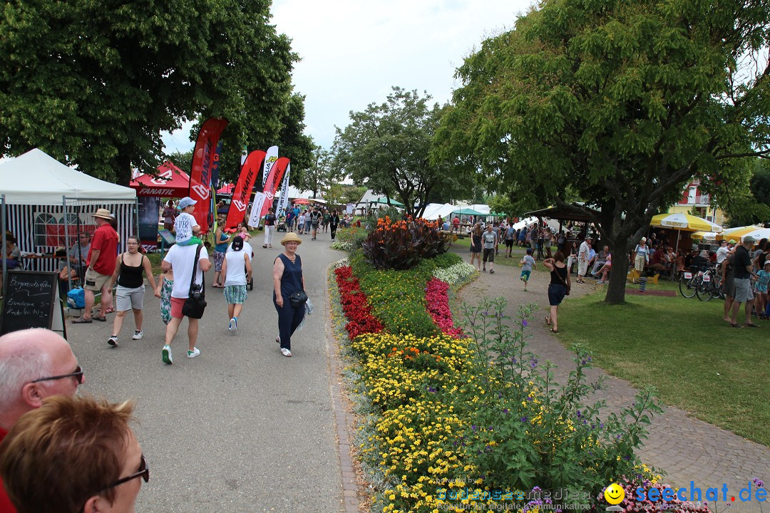
[[[171,291],[171,320],[169,321],[169,324],[166,325],[166,345],[163,346],[162,351],[162,360],[169,365],[173,363],[171,342],[176,336],[176,331],[179,330],[179,325],[182,323],[182,317],[184,317],[182,314],[182,306],[189,297],[192,267],[196,261],[195,257],[198,248],[200,248],[200,255],[198,257],[195,283],[203,293],[203,273],[211,268],[211,261],[209,261],[209,254],[206,252],[205,246],[173,245],[169,249],[169,252],[166,253],[166,258],[163,258],[160,265],[163,272],[174,272],[174,288],[172,288]],[[196,341],[198,339],[198,320],[199,319],[193,318],[187,319],[187,338],[189,342],[187,358],[195,358],[200,355],[200,351],[196,348]]]

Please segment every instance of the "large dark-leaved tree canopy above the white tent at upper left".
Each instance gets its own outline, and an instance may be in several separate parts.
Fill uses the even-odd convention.
[[[9,0],[0,52],[2,152],[39,147],[122,184],[192,118],[229,118],[226,141],[277,135],[296,60],[251,0]]]

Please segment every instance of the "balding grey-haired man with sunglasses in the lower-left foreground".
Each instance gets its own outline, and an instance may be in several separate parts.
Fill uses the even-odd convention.
[[[42,328],[0,337],[0,442],[19,417],[51,395],[75,395],[85,381],[69,343]],[[0,481],[0,513],[15,513]]]

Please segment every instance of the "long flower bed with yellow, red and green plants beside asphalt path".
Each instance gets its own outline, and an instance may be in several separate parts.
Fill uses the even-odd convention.
[[[377,271],[354,254],[350,268],[335,271],[345,311],[365,312],[384,328],[348,329],[355,388],[368,405],[359,441],[363,466],[377,476],[372,511],[464,511],[465,505],[532,511],[544,503],[517,501],[518,491],[542,486],[596,494],[611,478],[651,478],[634,455],[648,415],[659,411],[651,392],[600,419],[600,404],[584,404],[601,386],[585,383],[590,356],[576,348],[569,381],[554,384],[550,368],[525,349],[532,308],[520,308],[511,329],[503,299],[464,305],[469,336],[457,338],[463,332],[452,321],[449,285],[434,278],[457,259],[441,255],[407,271]],[[516,495],[507,501],[443,495],[468,490]],[[571,501],[577,502],[606,506],[594,496]]]

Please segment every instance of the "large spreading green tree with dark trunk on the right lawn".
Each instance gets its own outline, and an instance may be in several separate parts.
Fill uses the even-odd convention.
[[[622,302],[625,255],[652,215],[693,177],[729,197],[745,158],[770,152],[768,8],[546,0],[457,70],[442,148],[589,215],[616,255],[605,301]]]

